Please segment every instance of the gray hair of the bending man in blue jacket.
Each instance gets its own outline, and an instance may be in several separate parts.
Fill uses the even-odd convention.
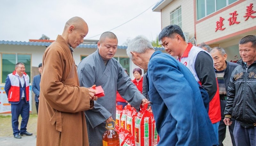
[[[137,52],[137,53],[144,53],[148,49],[155,50],[151,42],[144,36],[137,36],[136,38],[133,38],[127,49],[126,53],[129,56],[129,58],[132,58],[131,52]]]

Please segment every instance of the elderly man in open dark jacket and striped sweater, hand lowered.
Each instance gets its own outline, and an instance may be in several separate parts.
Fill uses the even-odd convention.
[[[214,71],[216,74],[216,77],[218,79],[218,85],[219,85],[219,93],[220,93],[220,110],[221,110],[221,120],[219,125],[219,144],[220,146],[223,146],[223,140],[226,137],[226,125],[223,122],[224,119],[224,110],[226,107],[227,102],[227,90],[228,90],[228,82],[231,76],[231,73],[233,70],[238,66],[238,64],[234,62],[228,62],[227,54],[225,50],[221,47],[214,47],[210,51],[210,54],[212,55],[213,59],[213,65],[214,65]],[[232,122],[235,122],[234,119],[232,119]],[[235,140],[233,135],[234,130],[234,124],[228,126],[230,137],[232,140],[233,146],[235,146]]]

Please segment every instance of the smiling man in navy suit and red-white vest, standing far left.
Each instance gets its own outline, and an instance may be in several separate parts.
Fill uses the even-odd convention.
[[[12,110],[12,130],[15,138],[23,135],[31,136],[27,131],[29,118],[29,76],[25,73],[24,63],[17,63],[15,71],[7,75],[4,90]],[[21,115],[21,125],[19,127],[19,116]],[[21,135],[21,136],[20,136]]]

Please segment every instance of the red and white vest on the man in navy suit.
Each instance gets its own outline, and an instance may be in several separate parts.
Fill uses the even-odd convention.
[[[8,101],[11,102],[18,102],[20,101],[20,79],[19,76],[16,74],[16,71],[8,74],[8,77],[11,81],[11,87],[8,92]],[[27,73],[23,73],[23,77],[25,79],[25,86],[26,86],[26,101],[29,101],[29,76]]]

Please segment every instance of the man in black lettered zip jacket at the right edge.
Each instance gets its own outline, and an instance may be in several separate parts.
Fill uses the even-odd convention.
[[[237,146],[256,145],[256,36],[248,35],[239,41],[242,59],[231,74],[224,123],[236,120],[234,139]]]

